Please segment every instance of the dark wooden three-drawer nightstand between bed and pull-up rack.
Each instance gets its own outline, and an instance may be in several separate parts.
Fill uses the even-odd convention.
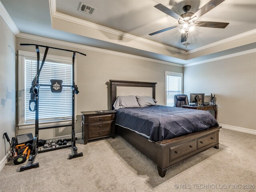
[[[82,138],[84,144],[89,140],[112,136],[115,138],[116,111],[86,111],[82,113]]]

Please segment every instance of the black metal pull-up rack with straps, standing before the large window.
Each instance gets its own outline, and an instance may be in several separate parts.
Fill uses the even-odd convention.
[[[20,45],[21,46],[36,46],[36,53],[37,53],[36,76],[34,77],[34,79],[32,81],[32,86],[30,88],[30,101],[29,101],[29,110],[35,112],[35,135],[37,136],[36,141],[35,141],[36,142],[35,155],[33,158],[36,158],[37,153],[47,152],[47,151],[51,151],[51,150],[57,150],[57,149],[61,149],[61,148],[68,148],[68,147],[70,147],[71,151],[72,151],[72,153],[69,155],[69,159],[83,156],[83,153],[77,152],[76,137],[75,137],[75,119],[74,119],[74,116],[75,116],[75,94],[78,94],[79,91],[78,91],[78,87],[74,81],[74,74],[75,74],[74,73],[74,62],[75,62],[76,53],[82,54],[84,56],[86,56],[86,54],[83,54],[83,53],[77,52],[77,51],[55,48],[55,47],[50,47],[50,46],[37,45],[37,44],[20,44]],[[46,48],[41,65],[40,65],[39,47]],[[39,127],[39,88],[40,88],[39,77],[40,77],[40,72],[44,66],[44,62],[46,60],[46,55],[48,53],[49,48],[73,52],[73,56],[72,56],[72,85],[62,85],[62,80],[58,80],[58,79],[50,80],[51,84],[41,84],[44,86],[50,86],[51,91],[54,93],[60,93],[62,91],[63,86],[71,88],[71,90],[72,90],[72,124]],[[34,104],[34,107],[31,108],[32,104]],[[60,128],[60,127],[67,127],[67,126],[71,126],[71,128],[72,128],[70,144],[68,144],[67,141],[65,142],[65,144],[64,144],[64,142],[56,141],[56,142],[44,144],[43,150],[42,149],[39,150],[39,148],[38,148],[39,130],[50,129],[50,128]],[[58,147],[57,147],[57,145],[58,145]],[[33,159],[33,161],[34,161],[34,159]],[[28,164],[24,169],[27,170],[30,168],[34,168],[34,167],[31,166],[31,164]]]

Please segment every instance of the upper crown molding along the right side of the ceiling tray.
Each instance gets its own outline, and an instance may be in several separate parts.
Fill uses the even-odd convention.
[[[253,29],[253,30],[250,30],[250,31],[247,31],[247,32],[244,32],[244,33],[241,33],[241,34],[238,34],[238,35],[226,38],[226,39],[222,39],[220,41],[216,41],[214,43],[211,43],[211,44],[208,44],[208,45],[205,45],[205,46],[193,49],[193,50],[190,50],[190,51],[188,51],[188,54],[194,53],[194,52],[197,52],[197,51],[201,51],[201,50],[204,50],[204,49],[207,49],[207,48],[211,48],[213,46],[224,44],[224,43],[227,43],[227,42],[230,42],[230,41],[233,41],[233,40],[237,40],[239,38],[243,38],[243,37],[253,35],[253,34],[256,34],[256,29]]]

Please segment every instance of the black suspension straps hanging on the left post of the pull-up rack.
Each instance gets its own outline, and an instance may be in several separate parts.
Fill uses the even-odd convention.
[[[30,100],[29,100],[29,105],[28,105],[28,109],[30,111],[36,111],[37,109],[37,97],[36,95],[39,94],[39,76],[40,76],[40,72],[44,66],[44,62],[46,60],[46,55],[48,53],[49,47],[46,46],[45,52],[44,52],[44,58],[42,60],[41,66],[39,68],[40,65],[40,51],[38,46],[36,46],[36,54],[37,54],[37,66],[36,66],[36,76],[34,77],[31,87],[30,87]],[[31,103],[34,103],[34,108],[31,109]]]

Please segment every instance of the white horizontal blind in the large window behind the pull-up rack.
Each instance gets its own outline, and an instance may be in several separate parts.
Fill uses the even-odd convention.
[[[28,109],[31,82],[36,75],[36,60],[25,58],[25,121],[34,122],[35,112]],[[41,63],[40,63],[41,64]],[[57,62],[45,62],[39,76],[39,84],[50,85],[51,79],[63,80],[61,93],[52,93],[50,86],[39,88],[39,121],[71,119],[72,116],[72,65]],[[33,108],[31,104],[31,108]]]

